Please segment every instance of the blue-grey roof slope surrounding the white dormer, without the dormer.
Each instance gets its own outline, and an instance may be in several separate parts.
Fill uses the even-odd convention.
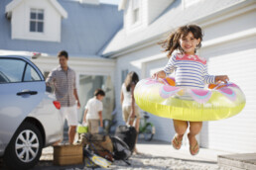
[[[88,5],[73,0],[59,0],[68,14],[68,18],[62,20],[61,42],[12,40],[11,21],[5,17],[5,6],[10,2],[0,0],[0,49],[53,55],[65,49],[69,56],[99,57],[98,51],[123,25],[123,13],[117,10],[117,5]]]

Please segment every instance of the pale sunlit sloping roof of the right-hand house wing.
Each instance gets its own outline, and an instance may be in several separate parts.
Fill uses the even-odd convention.
[[[250,0],[247,0],[250,1]],[[127,50],[133,50],[140,45],[146,45],[149,42],[160,42],[164,35],[172,30],[203,20],[207,16],[224,11],[229,7],[246,3],[245,0],[201,0],[198,3],[184,9],[182,0],[176,0],[167,10],[163,12],[146,29],[127,34],[122,28],[115,37],[102,49],[102,55],[105,57],[115,56]],[[120,8],[125,0],[119,4]],[[157,40],[157,41],[156,41]]]

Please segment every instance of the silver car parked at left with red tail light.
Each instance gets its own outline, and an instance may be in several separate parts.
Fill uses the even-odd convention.
[[[61,104],[27,57],[0,55],[0,157],[10,169],[29,169],[42,148],[63,139]]]

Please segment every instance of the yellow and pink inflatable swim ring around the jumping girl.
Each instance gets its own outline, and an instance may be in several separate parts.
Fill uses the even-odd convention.
[[[136,104],[159,117],[181,121],[216,121],[232,117],[245,106],[234,83],[209,84],[208,89],[176,87],[175,79],[142,79],[134,90]]]

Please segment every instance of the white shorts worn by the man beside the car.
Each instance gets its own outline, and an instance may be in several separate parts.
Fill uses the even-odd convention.
[[[78,116],[77,116],[77,108],[76,105],[71,107],[61,107],[61,115],[63,117],[63,121],[66,119],[67,126],[77,126]]]

